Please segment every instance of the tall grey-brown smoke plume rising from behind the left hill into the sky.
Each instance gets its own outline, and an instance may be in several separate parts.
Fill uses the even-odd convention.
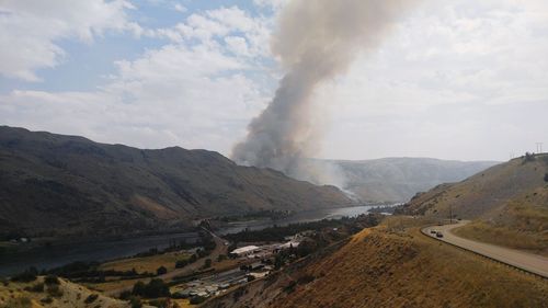
[[[272,52],[286,75],[275,96],[235,146],[241,164],[269,167],[317,183],[343,180],[301,163],[319,150],[321,125],[313,123],[313,93],[323,81],[344,73],[362,52],[376,48],[411,0],[295,0],[281,12]],[[336,176],[335,176],[336,178]]]

